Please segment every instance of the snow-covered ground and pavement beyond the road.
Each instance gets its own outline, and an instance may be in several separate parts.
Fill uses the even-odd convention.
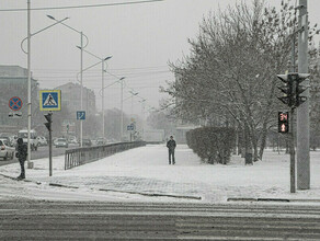
[[[295,194],[289,193],[288,154],[266,150],[263,161],[249,167],[239,157],[232,157],[228,165],[204,164],[182,145],[175,156],[176,164],[169,165],[164,145],[147,146],[67,171],[65,158],[57,157],[53,176],[48,159],[39,159],[34,161],[34,169],[26,170],[32,182],[0,175],[0,198],[224,203],[228,197],[262,197],[320,203],[320,151],[311,152],[311,188]],[[8,176],[18,176],[19,171],[19,163],[0,168],[0,173]],[[147,196],[155,194],[158,196]]]

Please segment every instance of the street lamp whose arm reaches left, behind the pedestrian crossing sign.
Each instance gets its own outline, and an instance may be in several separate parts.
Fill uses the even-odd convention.
[[[47,15],[47,18],[49,18],[50,20],[56,21],[57,23],[59,22],[58,20],[56,20],[52,15]],[[81,50],[80,51],[80,83],[81,83],[81,89],[80,89],[80,99],[81,99],[80,100],[80,108],[81,108],[81,111],[83,111],[82,110],[83,108],[83,100],[82,100],[83,99],[83,91],[82,91],[82,89],[83,89],[83,83],[82,83],[83,48],[85,48],[88,46],[89,39],[88,39],[87,35],[83,34],[81,31],[78,31],[78,30],[76,30],[76,28],[73,28],[73,27],[71,27],[71,26],[69,26],[69,25],[67,25],[65,23],[60,23],[60,24],[62,24],[64,26],[68,27],[69,30],[72,30],[73,32],[80,34],[80,43],[81,43],[81,45],[80,45],[80,47],[81,47],[80,48],[80,50]],[[85,43],[84,46],[83,46],[83,36],[87,38],[87,43]],[[82,120],[80,122],[80,147],[82,147]]]

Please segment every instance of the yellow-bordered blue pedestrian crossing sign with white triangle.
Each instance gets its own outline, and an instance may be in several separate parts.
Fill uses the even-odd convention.
[[[39,91],[41,111],[61,111],[61,90]]]

